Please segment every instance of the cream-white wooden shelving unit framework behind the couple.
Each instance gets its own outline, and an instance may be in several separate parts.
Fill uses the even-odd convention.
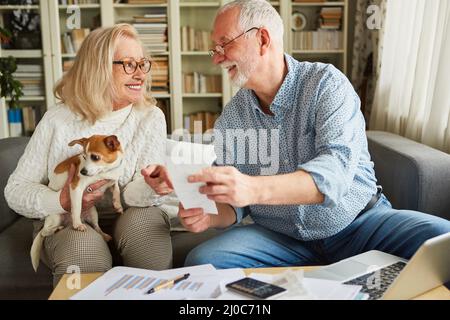
[[[168,51],[157,56],[167,56],[169,60],[169,93],[156,93],[157,100],[164,100],[170,108],[170,127],[183,127],[183,115],[202,110],[220,111],[231,99],[237,88],[233,88],[228,75],[220,67],[214,66],[206,51],[181,50],[181,26],[189,25],[197,29],[211,30],[216,10],[229,0],[167,0],[164,4],[127,4],[115,3],[115,0],[98,0],[95,4],[79,5],[81,27],[92,28],[92,18],[100,16],[101,26],[107,27],[121,20],[130,20],[135,15],[151,13],[152,10],[165,9],[168,17]],[[38,10],[41,14],[42,48],[38,50],[1,50],[0,57],[12,55],[20,59],[42,61],[45,72],[45,97],[27,97],[23,102],[40,102],[44,108],[56,103],[53,86],[63,74],[63,61],[73,59],[75,54],[62,53],[61,35],[66,32],[65,21],[70,6],[59,5],[58,0],[40,0],[33,6],[0,6],[0,13],[15,9]],[[293,2],[290,0],[270,1],[280,13],[285,28],[285,51],[299,60],[332,62],[347,73],[347,39],[348,39],[348,0],[325,2]],[[341,7],[343,43],[338,50],[293,50],[292,13],[303,12],[309,21],[317,21],[320,8]],[[0,25],[3,21],[0,18]],[[307,30],[312,30],[311,27]],[[183,93],[183,72],[201,72],[221,75],[222,91],[220,93]]]

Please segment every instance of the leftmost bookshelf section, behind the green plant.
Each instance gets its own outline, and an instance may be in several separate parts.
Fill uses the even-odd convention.
[[[47,16],[48,3],[35,1],[32,5],[0,5],[0,26],[13,31],[13,15],[27,14],[31,21],[39,21],[33,32],[21,32],[13,36],[12,41],[2,43],[0,58],[12,56],[16,58],[17,70],[15,79],[23,85],[23,93],[19,100],[22,111],[22,135],[30,135],[35,123],[50,106],[47,97],[51,96],[52,78],[45,70],[51,69],[50,50],[48,50],[49,36],[48,21],[42,19]],[[14,135],[8,122],[9,99],[0,100],[0,138]]]

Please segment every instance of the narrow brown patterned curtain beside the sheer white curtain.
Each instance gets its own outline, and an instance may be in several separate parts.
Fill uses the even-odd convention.
[[[371,5],[380,9],[377,12],[381,20],[380,29],[369,29],[367,22],[373,18],[373,12],[367,13]],[[352,58],[352,84],[361,98],[361,110],[366,122],[369,122],[375,95],[375,84],[379,75],[379,53],[382,50],[380,39],[383,32],[386,0],[357,0],[355,8],[355,32]],[[373,21],[373,20],[372,20]]]

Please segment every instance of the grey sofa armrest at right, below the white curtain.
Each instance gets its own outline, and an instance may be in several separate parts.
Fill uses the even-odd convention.
[[[393,207],[450,219],[450,155],[388,132],[368,131],[367,138]]]

